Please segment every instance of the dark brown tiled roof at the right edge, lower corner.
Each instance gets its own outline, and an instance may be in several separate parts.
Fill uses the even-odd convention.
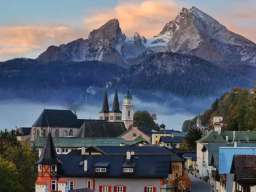
[[[256,155],[234,155],[230,173],[235,173],[237,182],[256,185]]]

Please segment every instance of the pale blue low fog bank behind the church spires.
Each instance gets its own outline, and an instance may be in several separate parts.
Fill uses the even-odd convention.
[[[122,94],[120,94],[122,95]],[[114,95],[109,95],[109,107],[112,108]],[[122,98],[119,96],[119,98]],[[103,100],[103,98],[102,98]],[[120,108],[122,105],[119,99]],[[30,127],[45,108],[70,109],[70,105],[61,105],[56,102],[31,102],[28,100],[5,100],[0,101],[0,130],[4,128]],[[81,119],[98,119],[98,112],[101,111],[102,102],[86,103],[77,108],[77,116]],[[155,102],[146,103],[134,97],[134,112],[147,110],[157,115],[157,123],[166,124],[168,129],[181,130],[181,126],[186,119],[193,118],[196,114],[191,114],[184,108],[172,108],[167,105],[159,105]]]

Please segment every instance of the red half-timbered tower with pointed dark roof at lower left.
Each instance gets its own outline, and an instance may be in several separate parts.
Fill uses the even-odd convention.
[[[62,164],[62,162],[57,157],[56,149],[50,132],[48,133],[43,151],[39,157],[39,160],[36,161],[36,164],[38,164],[38,180],[36,180],[35,183],[36,191],[42,191],[38,188],[38,186],[40,186],[38,183],[43,183],[43,181],[47,181],[49,183],[49,191],[57,191],[57,170],[58,166]]]

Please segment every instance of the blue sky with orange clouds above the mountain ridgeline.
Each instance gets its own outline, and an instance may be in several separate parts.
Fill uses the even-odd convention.
[[[196,6],[229,30],[256,42],[255,0],[1,0],[0,61],[36,58],[117,18],[122,32],[149,38],[182,7]]]

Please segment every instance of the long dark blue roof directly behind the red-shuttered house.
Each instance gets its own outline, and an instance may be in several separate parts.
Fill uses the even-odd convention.
[[[102,155],[125,155],[127,151],[134,151],[135,155],[171,155],[172,161],[184,161],[183,158],[175,155],[171,149],[167,147],[159,147],[154,145],[140,146],[97,146],[89,147],[86,152],[95,151]]]

